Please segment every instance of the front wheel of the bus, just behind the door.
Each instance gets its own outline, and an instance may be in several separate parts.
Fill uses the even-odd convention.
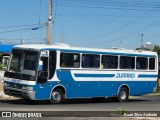
[[[55,89],[51,94],[51,104],[60,104],[64,100],[64,95],[61,89]]]

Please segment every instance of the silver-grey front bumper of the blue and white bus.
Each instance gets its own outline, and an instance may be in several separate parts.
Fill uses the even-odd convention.
[[[10,95],[10,96],[14,96],[14,97],[35,100],[35,91],[15,89],[15,88],[10,88],[10,87],[4,86],[4,93],[6,95]]]

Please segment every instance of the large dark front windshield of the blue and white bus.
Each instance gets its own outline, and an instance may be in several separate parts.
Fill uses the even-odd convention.
[[[38,52],[13,52],[9,72],[18,72],[22,74],[36,74],[38,62]]]

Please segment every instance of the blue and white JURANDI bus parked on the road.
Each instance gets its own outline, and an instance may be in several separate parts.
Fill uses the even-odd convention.
[[[4,74],[4,93],[26,100],[116,98],[153,93],[155,52],[73,47],[67,44],[14,46]]]

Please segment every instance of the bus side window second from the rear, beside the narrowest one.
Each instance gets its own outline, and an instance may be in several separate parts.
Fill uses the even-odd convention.
[[[148,69],[148,58],[137,57],[136,69],[147,70]]]

